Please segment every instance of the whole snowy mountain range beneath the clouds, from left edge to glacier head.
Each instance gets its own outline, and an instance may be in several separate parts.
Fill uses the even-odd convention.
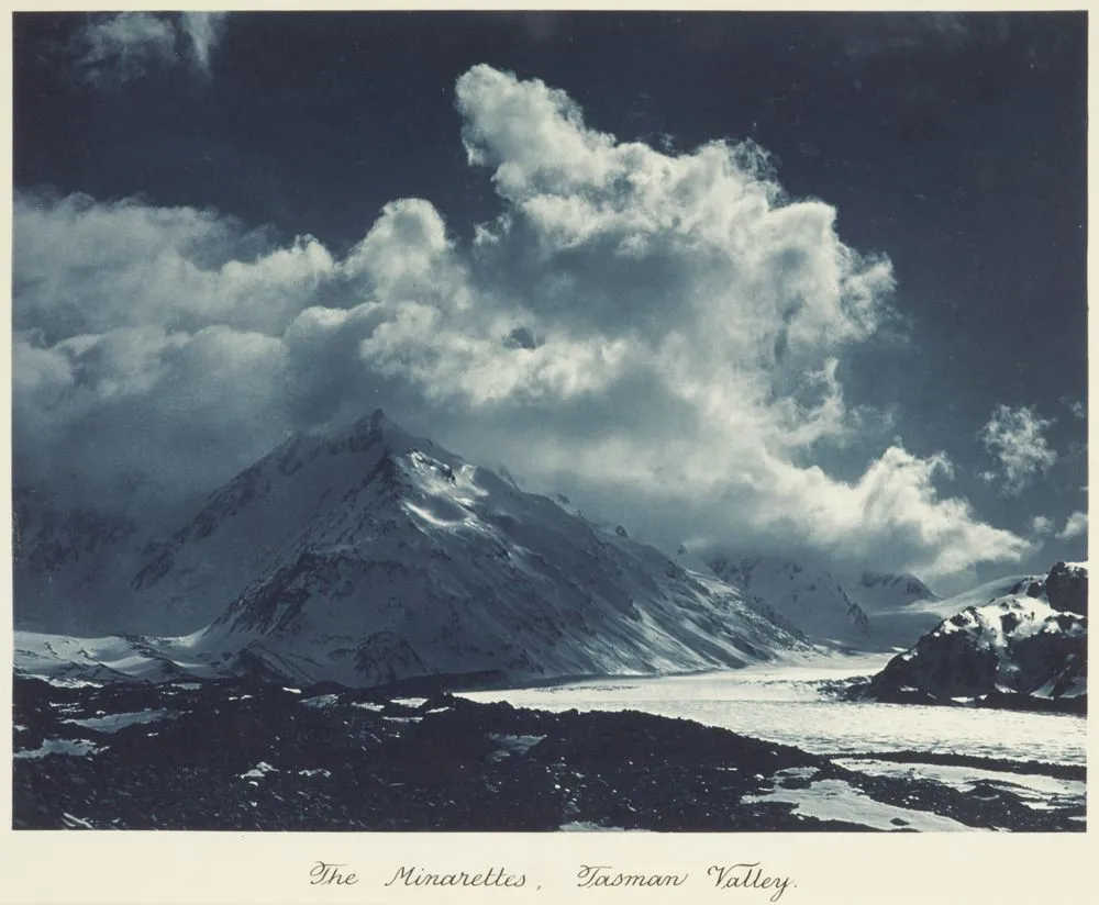
[[[907,647],[955,612],[912,576],[670,558],[380,411],[290,437],[175,530],[25,489],[15,524],[16,662],[38,674],[671,672]]]

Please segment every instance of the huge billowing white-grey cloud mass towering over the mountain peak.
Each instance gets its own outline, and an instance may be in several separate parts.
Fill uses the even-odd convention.
[[[18,197],[16,479],[209,489],[288,429],[382,405],[659,543],[929,578],[1028,551],[940,495],[945,455],[895,444],[856,480],[813,465],[874,421],[841,365],[893,276],[761,148],[618,142],[488,66],[456,88],[501,202],[466,244],[420,199],[337,257],[210,211]]]

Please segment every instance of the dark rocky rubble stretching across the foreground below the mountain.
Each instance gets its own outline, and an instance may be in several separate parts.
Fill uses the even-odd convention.
[[[16,829],[1085,828],[1083,801],[1034,807],[1010,784],[869,775],[634,712],[240,681],[16,675],[14,691]],[[1084,779],[1083,767],[1041,772]],[[844,804],[824,816],[798,804],[807,794]]]

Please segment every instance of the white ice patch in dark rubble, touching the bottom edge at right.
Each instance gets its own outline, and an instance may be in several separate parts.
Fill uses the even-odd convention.
[[[792,804],[795,814],[818,820],[842,820],[869,829],[914,829],[920,833],[969,833],[974,829],[950,817],[875,801],[843,780],[818,780],[804,789],[787,789],[784,785],[790,779],[807,779],[806,768],[780,770],[774,779],[775,789],[770,792],[745,795],[741,801],[752,804]]]

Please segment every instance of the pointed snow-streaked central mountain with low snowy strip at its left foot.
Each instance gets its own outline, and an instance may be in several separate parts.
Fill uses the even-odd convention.
[[[129,639],[146,678],[176,664],[374,685],[728,668],[803,647],[724,582],[380,412],[337,437],[282,444],[214,493],[132,586],[176,624],[221,610],[186,638]],[[27,671],[74,673],[64,652],[49,666],[43,636],[16,640]],[[127,661],[116,640],[97,644],[52,647],[111,670]]]

